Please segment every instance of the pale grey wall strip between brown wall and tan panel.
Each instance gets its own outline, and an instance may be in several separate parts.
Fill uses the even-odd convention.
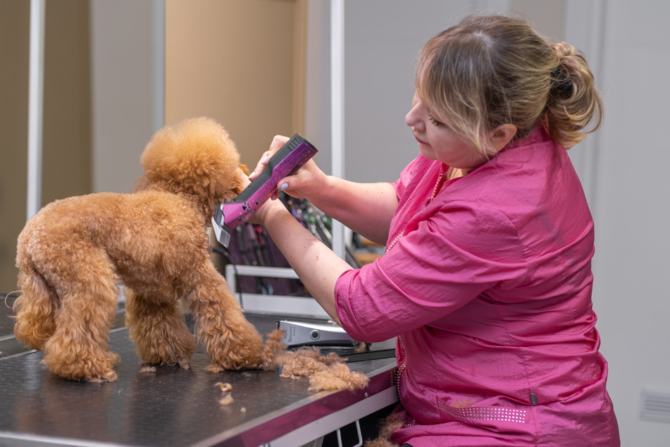
[[[163,0],[91,1],[94,192],[130,192],[163,126],[163,11]]]

